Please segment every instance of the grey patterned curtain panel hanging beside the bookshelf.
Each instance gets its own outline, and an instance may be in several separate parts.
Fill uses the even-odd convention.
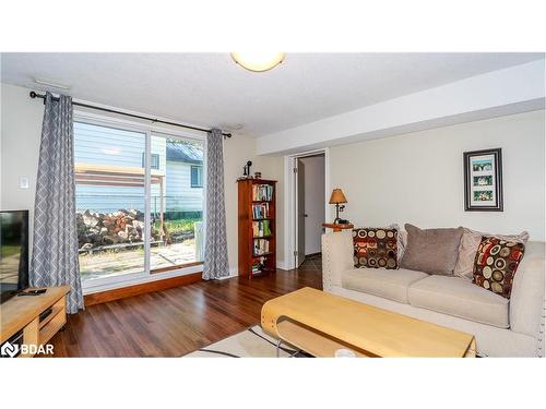
[[[203,279],[229,275],[227,263],[226,207],[224,203],[224,154],[222,131],[206,135],[206,220]]]

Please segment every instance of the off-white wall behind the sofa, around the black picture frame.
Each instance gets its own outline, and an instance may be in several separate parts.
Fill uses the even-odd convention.
[[[502,148],[505,212],[464,212],[463,152]],[[335,146],[331,183],[355,226],[527,230],[545,240],[544,110]]]

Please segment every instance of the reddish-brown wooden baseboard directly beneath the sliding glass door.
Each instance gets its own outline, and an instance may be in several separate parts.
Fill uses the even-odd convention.
[[[154,291],[166,290],[168,288],[187,286],[189,284],[201,281],[202,280],[201,276],[202,273],[187,274],[183,276],[170,277],[150,282],[142,282],[133,286],[116,288],[112,290],[94,292],[84,296],[83,299],[85,306],[102,304],[103,302],[109,302],[127,297],[139,296],[146,292],[154,292]]]

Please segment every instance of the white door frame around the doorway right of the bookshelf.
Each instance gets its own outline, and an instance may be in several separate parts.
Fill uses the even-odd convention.
[[[284,157],[284,262],[277,263],[280,268],[294,269],[296,262],[294,252],[297,250],[297,219],[296,219],[296,181],[294,176],[294,167],[298,158],[316,156],[324,154],[324,221],[333,216],[333,210],[330,208],[328,201],[331,193],[330,189],[330,148],[323,147],[300,152]]]

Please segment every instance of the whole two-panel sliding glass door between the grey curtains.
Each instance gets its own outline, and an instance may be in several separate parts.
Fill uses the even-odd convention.
[[[203,152],[200,140],[74,122],[84,288],[202,262]]]

